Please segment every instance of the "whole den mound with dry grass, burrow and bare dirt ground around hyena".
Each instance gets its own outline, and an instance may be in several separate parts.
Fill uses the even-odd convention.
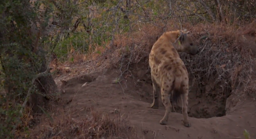
[[[254,29],[252,26],[249,28]],[[111,118],[118,115],[134,125],[138,133],[135,138],[243,138],[244,129],[252,138],[256,137],[252,102],[255,99],[245,97],[244,93],[248,84],[254,82],[251,78],[253,49],[248,49],[254,45],[248,45],[247,37],[244,38],[249,35],[254,41],[251,31],[202,24],[186,25],[186,28],[200,40],[201,50],[195,57],[180,53],[190,74],[190,128],[182,125],[180,107],[176,107],[177,113],[170,114],[166,126],[159,124],[164,106],[150,108],[153,88],[148,53],[164,31],[152,26],[145,26],[143,35],[134,33],[134,38],[116,37],[116,47],[106,49],[96,61],[99,69],[110,70],[62,80],[62,98],[67,102],[64,111],[72,113],[75,119],[87,117],[88,109],[96,109]]]

